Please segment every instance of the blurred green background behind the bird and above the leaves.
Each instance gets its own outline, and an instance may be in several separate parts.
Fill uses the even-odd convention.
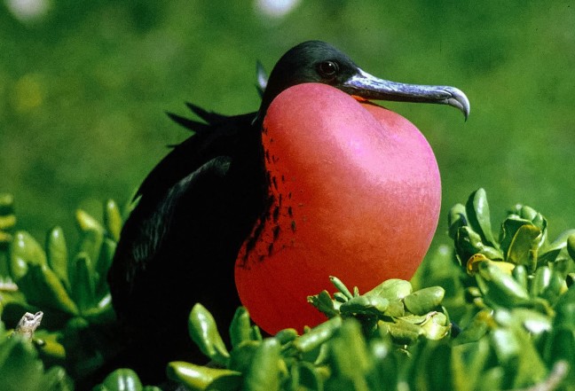
[[[437,154],[436,243],[448,208],[478,187],[494,222],[520,201],[551,237],[575,226],[575,1],[319,0],[275,16],[260,3],[0,0],[0,192],[20,228],[73,236],[76,207],[127,202],[188,136],[165,111],[255,111],[256,60],[269,72],[308,39],[382,78],[467,93],[467,122],[447,106],[385,104]]]

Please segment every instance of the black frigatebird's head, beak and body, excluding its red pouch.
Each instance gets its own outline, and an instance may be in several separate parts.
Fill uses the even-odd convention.
[[[207,307],[222,331],[230,324],[240,305],[234,263],[269,213],[264,117],[282,91],[308,82],[363,99],[443,104],[469,114],[461,90],[378,79],[319,41],[300,43],[280,58],[254,113],[226,116],[188,104],[202,121],[170,114],[193,136],[174,146],[139,187],[108,274],[114,309],[135,340],[132,348],[139,347],[132,358],[141,359],[134,365],[143,374],[153,371],[146,368],[152,356],[165,364],[193,351],[186,317],[194,303]]]

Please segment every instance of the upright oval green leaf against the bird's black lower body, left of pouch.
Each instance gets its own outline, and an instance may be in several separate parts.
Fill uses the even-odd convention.
[[[204,355],[209,356],[217,364],[226,365],[228,363],[230,354],[217,331],[216,321],[208,309],[200,303],[195,304],[192,312],[190,312],[188,331]]]

